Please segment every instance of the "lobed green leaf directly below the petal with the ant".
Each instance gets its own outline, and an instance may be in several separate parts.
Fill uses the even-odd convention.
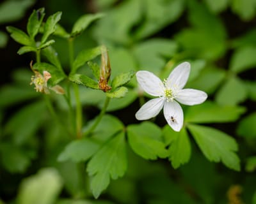
[[[188,163],[191,156],[191,145],[186,129],[183,128],[180,132],[175,132],[167,125],[163,129],[163,135],[166,142],[170,144],[168,152],[173,168],[176,169],[180,165]]]

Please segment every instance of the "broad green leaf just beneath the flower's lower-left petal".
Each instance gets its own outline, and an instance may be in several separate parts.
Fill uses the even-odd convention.
[[[132,150],[144,159],[165,158],[168,151],[163,143],[161,129],[151,122],[141,122],[127,127]]]

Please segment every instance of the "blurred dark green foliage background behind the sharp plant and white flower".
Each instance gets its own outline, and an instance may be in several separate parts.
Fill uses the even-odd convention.
[[[230,109],[234,113],[232,119],[223,119],[225,123],[211,122],[209,126],[236,138],[241,171],[207,161],[193,140],[189,163],[177,170],[168,161],[146,161],[129,149],[125,177],[111,181],[98,201],[91,194],[85,199],[81,192],[84,178],[77,166],[56,161],[68,141],[67,133],[52,124],[40,94],[29,86],[29,62],[35,56],[18,55],[19,45],[5,28],[13,25],[26,30],[29,15],[41,7],[47,15],[62,11],[60,24],[67,31],[85,13],[105,13],[105,17],[77,37],[75,52],[106,45],[113,77],[131,69],[146,69],[164,78],[175,64],[191,62],[188,87],[207,92],[216,105],[234,108]],[[38,196],[40,200],[35,204],[256,203],[255,13],[255,0],[3,1],[0,4],[0,203],[30,204]],[[54,38],[61,63],[68,69],[67,42]],[[131,84],[136,84],[135,79]],[[90,89],[81,93],[85,117],[90,120],[102,107],[102,95]],[[137,123],[134,118],[140,106],[137,96],[131,89],[124,99],[113,99],[109,112],[125,125]],[[65,117],[61,99],[56,97],[54,101],[60,115]],[[198,112],[204,110],[199,108]],[[197,112],[193,113],[192,117],[196,117]],[[156,124],[164,126],[162,116],[157,117]]]

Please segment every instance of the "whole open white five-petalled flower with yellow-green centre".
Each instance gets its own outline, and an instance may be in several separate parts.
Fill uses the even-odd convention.
[[[180,131],[183,126],[183,111],[179,103],[197,105],[207,98],[204,91],[183,89],[188,81],[189,72],[189,62],[183,62],[173,69],[169,77],[162,82],[149,71],[138,71],[136,77],[141,88],[151,96],[158,96],[158,98],[151,99],[141,106],[135,115],[136,119],[147,120],[156,117],[164,108],[164,117],[168,124],[174,131]]]

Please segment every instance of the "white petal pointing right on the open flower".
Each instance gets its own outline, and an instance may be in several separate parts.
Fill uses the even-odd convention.
[[[175,98],[180,103],[189,106],[203,103],[206,99],[207,94],[196,89],[182,89],[177,93],[177,98]]]

